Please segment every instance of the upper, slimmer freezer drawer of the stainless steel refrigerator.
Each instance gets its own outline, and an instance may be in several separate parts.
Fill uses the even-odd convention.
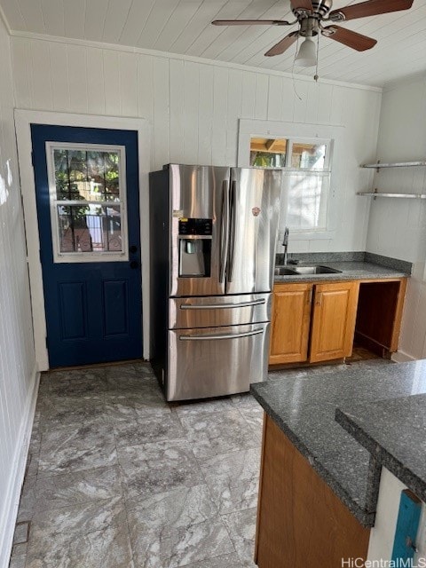
[[[170,298],[170,329],[238,326],[271,319],[271,294]]]

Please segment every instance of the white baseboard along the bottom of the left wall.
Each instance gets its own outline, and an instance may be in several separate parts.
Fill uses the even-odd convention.
[[[4,499],[4,510],[0,511],[0,568],[7,568],[9,566],[12,553],[13,533],[18,508],[20,506],[20,492],[24,482],[28,447],[36,412],[39,382],[40,373],[35,366],[31,374],[32,389],[28,391],[28,398],[20,423],[20,433],[15,448],[15,455],[11,464],[11,475]]]

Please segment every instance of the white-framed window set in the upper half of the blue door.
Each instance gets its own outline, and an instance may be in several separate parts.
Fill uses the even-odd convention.
[[[55,262],[125,260],[124,148],[46,146]]]

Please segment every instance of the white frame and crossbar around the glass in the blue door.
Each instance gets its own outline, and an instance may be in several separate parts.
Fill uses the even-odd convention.
[[[118,186],[121,208],[122,252],[60,252],[59,224],[57,205],[72,205],[66,201],[56,199],[55,166],[53,152],[58,149],[69,150],[96,150],[99,152],[116,152],[120,154],[120,167],[118,171]],[[128,227],[127,227],[127,186],[126,186],[126,149],[125,146],[102,144],[76,144],[62,142],[46,142],[47,177],[49,182],[49,200],[51,205],[51,244],[53,248],[53,262],[61,263],[102,263],[126,262],[129,260]],[[79,201],[79,205],[86,201]],[[100,203],[99,201],[97,202]],[[111,202],[114,205],[114,201]]]

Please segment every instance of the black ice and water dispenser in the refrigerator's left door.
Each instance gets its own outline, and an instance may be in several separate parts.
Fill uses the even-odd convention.
[[[209,277],[212,219],[179,219],[179,276]]]

